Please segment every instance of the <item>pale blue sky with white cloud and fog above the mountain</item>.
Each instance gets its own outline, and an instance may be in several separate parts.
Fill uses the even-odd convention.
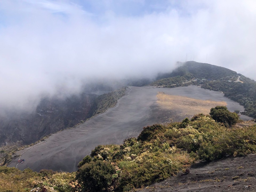
[[[0,105],[154,77],[186,55],[256,79],[255,31],[254,0],[2,0]]]

